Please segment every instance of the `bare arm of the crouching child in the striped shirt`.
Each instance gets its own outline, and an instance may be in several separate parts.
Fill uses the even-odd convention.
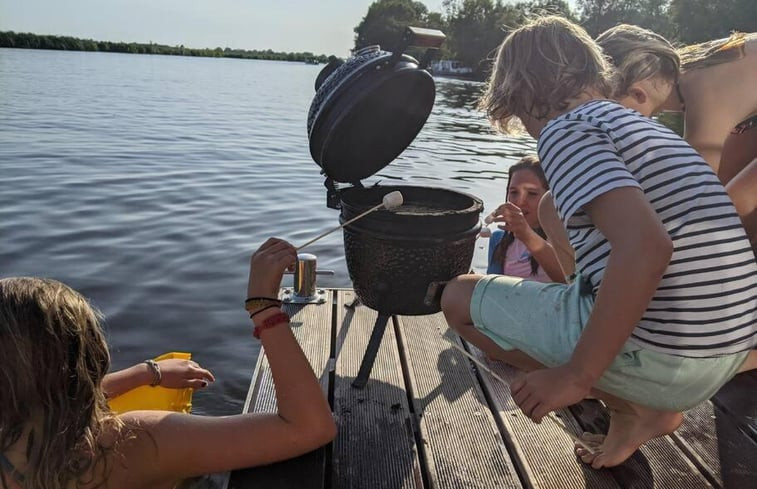
[[[673,252],[665,227],[638,188],[610,190],[584,211],[612,250],[570,361],[531,372],[512,384],[515,402],[536,422],[588,395],[646,311]]]

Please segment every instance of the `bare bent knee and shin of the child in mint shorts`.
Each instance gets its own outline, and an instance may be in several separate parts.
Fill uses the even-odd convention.
[[[442,311],[449,326],[466,341],[480,348],[486,356],[523,370],[544,368],[544,365],[518,350],[503,350],[473,326],[470,302],[473,289],[481,275],[460,275],[451,280],[442,294]]]

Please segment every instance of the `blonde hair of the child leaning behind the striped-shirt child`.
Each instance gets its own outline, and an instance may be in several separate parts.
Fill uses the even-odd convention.
[[[613,97],[628,94],[631,85],[652,77],[678,82],[681,60],[667,39],[648,29],[620,24],[597,36],[597,44],[615,66]]]

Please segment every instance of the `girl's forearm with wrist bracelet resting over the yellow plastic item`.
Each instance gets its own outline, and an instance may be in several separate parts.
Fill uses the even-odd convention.
[[[215,381],[213,374],[201,368],[196,362],[180,358],[170,358],[157,362],[160,369],[160,384],[171,389],[202,389],[208,382]],[[102,389],[108,399],[120,396],[137,387],[151,385],[155,375],[146,363],[138,363],[123,370],[111,372],[102,380]]]

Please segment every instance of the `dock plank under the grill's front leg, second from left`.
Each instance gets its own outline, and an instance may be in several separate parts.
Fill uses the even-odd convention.
[[[412,416],[402,377],[394,328],[386,328],[370,380],[352,387],[377,313],[345,308],[354,292],[337,301],[332,487],[344,489],[423,488]],[[292,486],[295,487],[295,486]]]

